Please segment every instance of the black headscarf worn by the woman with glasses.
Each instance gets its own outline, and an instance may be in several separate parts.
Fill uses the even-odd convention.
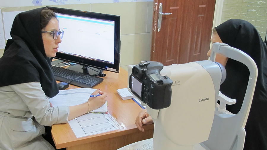
[[[0,59],[0,87],[40,82],[48,97],[59,92],[40,29],[40,14],[44,8],[22,12],[15,17],[10,31],[12,39],[7,41]]]

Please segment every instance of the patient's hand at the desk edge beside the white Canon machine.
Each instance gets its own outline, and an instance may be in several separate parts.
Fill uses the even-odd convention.
[[[152,117],[145,110],[139,112],[138,116],[135,119],[135,124],[137,128],[142,132],[144,132],[144,128],[142,127],[143,124],[150,125],[152,123],[153,123]]]

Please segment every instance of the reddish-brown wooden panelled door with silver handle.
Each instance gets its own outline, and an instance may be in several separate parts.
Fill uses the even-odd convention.
[[[158,31],[159,4],[163,13]],[[164,65],[207,60],[215,0],[154,0],[151,61]]]

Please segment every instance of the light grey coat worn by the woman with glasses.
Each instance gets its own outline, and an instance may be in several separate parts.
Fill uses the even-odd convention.
[[[50,107],[39,82],[0,87],[0,149],[54,149],[45,126],[66,123],[69,107]]]

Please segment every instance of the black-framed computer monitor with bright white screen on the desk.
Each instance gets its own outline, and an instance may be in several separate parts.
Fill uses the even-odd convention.
[[[57,59],[119,72],[120,16],[47,7],[64,31]]]

